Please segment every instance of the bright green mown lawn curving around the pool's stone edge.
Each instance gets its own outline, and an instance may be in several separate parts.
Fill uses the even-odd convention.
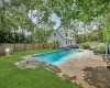
[[[19,69],[14,65],[15,62],[22,59],[22,56],[51,51],[53,50],[25,51],[1,56],[0,88],[80,88],[46,69]]]

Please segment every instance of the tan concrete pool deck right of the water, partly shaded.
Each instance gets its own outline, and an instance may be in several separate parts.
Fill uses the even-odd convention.
[[[85,50],[58,67],[66,75],[76,76],[76,80],[73,81],[80,84],[84,88],[110,88],[110,70],[107,69],[102,56],[95,55],[92,51]]]

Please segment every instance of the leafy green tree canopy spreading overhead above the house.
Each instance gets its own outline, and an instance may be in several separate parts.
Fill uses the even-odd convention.
[[[41,28],[44,30],[53,29],[55,25],[55,22],[51,20],[53,13],[61,19],[62,28],[73,30],[73,28],[75,28],[75,20],[90,24],[96,18],[105,16],[109,19],[110,1],[0,0],[0,30],[15,32],[21,29],[22,33],[25,30],[34,33],[35,30]],[[31,16],[29,16],[29,14]],[[35,20],[35,22],[33,20]],[[107,20],[102,23],[106,30],[110,29],[108,23],[110,22]],[[106,30],[105,35],[108,35],[106,34],[108,33]]]

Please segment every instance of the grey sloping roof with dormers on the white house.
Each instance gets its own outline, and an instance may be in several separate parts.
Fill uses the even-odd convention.
[[[69,40],[69,41],[74,41],[75,38],[73,38],[73,35],[75,34],[74,32],[70,31],[63,31],[63,30],[55,30],[55,32],[63,37],[64,40]],[[69,37],[65,36],[65,33],[69,34]],[[70,37],[72,36],[72,37]]]

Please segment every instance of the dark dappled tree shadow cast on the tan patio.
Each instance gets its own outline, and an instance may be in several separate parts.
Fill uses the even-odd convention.
[[[97,88],[110,88],[110,67],[86,67],[85,80]]]

